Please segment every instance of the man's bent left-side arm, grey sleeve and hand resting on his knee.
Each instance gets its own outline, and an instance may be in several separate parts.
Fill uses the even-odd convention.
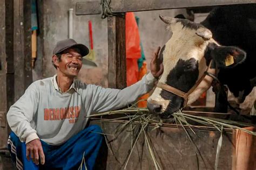
[[[31,84],[26,89],[24,95],[10,107],[7,114],[7,121],[11,130],[19,137],[19,140],[26,142],[26,157],[32,158],[35,164],[39,162],[44,164],[44,153],[41,141],[39,140],[36,130],[32,129],[30,122],[38,108],[39,96],[36,93],[35,84]]]

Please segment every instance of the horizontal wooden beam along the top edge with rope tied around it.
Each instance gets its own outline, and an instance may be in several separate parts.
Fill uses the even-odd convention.
[[[76,3],[76,15],[99,14],[101,12],[100,2],[87,0]],[[112,12],[134,12],[249,3],[256,3],[256,0],[111,0],[110,8]]]

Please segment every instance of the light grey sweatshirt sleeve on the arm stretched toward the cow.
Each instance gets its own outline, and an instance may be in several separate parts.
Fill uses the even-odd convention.
[[[93,113],[116,110],[137,100],[139,96],[148,93],[157,79],[149,73],[142,80],[122,90],[103,88],[93,85]]]

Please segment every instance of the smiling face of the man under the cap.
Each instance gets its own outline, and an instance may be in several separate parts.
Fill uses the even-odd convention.
[[[58,72],[61,72],[65,76],[75,77],[78,75],[79,70],[82,67],[82,56],[75,49],[66,49],[60,61],[57,61],[56,66]]]

